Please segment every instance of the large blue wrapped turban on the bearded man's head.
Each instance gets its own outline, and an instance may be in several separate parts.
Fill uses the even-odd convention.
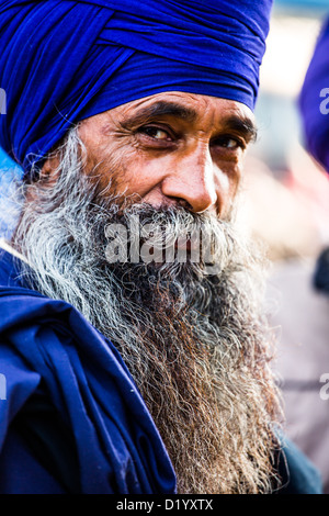
[[[72,124],[163,91],[254,108],[272,0],[0,1],[0,145],[24,171]]]

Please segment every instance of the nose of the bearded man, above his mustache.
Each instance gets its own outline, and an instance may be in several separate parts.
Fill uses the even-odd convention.
[[[208,148],[175,159],[170,172],[162,181],[162,194],[184,201],[194,213],[217,209],[215,166]]]

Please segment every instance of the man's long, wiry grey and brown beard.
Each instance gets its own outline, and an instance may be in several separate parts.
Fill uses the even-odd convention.
[[[230,222],[99,192],[81,171],[78,148],[72,133],[56,184],[26,189],[13,239],[32,267],[31,273],[23,266],[25,281],[71,303],[117,346],[180,493],[271,492],[279,482],[272,463],[280,407],[254,250]],[[133,214],[170,225],[173,240],[202,224],[215,238],[217,273],[189,260],[109,263],[104,227],[128,226]]]

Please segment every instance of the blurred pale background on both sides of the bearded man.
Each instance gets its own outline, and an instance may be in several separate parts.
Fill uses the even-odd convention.
[[[297,108],[327,15],[329,0],[274,0],[242,214],[271,262],[266,307],[277,334],[284,429],[318,467],[329,493],[329,400],[320,397],[320,377],[329,373],[329,295],[314,287],[318,258],[329,247],[329,176],[304,150]],[[0,236],[10,236],[14,224],[7,197],[19,176],[0,149]]]

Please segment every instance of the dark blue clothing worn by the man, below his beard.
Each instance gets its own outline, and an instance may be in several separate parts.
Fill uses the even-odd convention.
[[[0,251],[0,494],[173,494],[175,476],[118,352],[72,306],[24,289]],[[291,442],[274,494],[320,493]]]

